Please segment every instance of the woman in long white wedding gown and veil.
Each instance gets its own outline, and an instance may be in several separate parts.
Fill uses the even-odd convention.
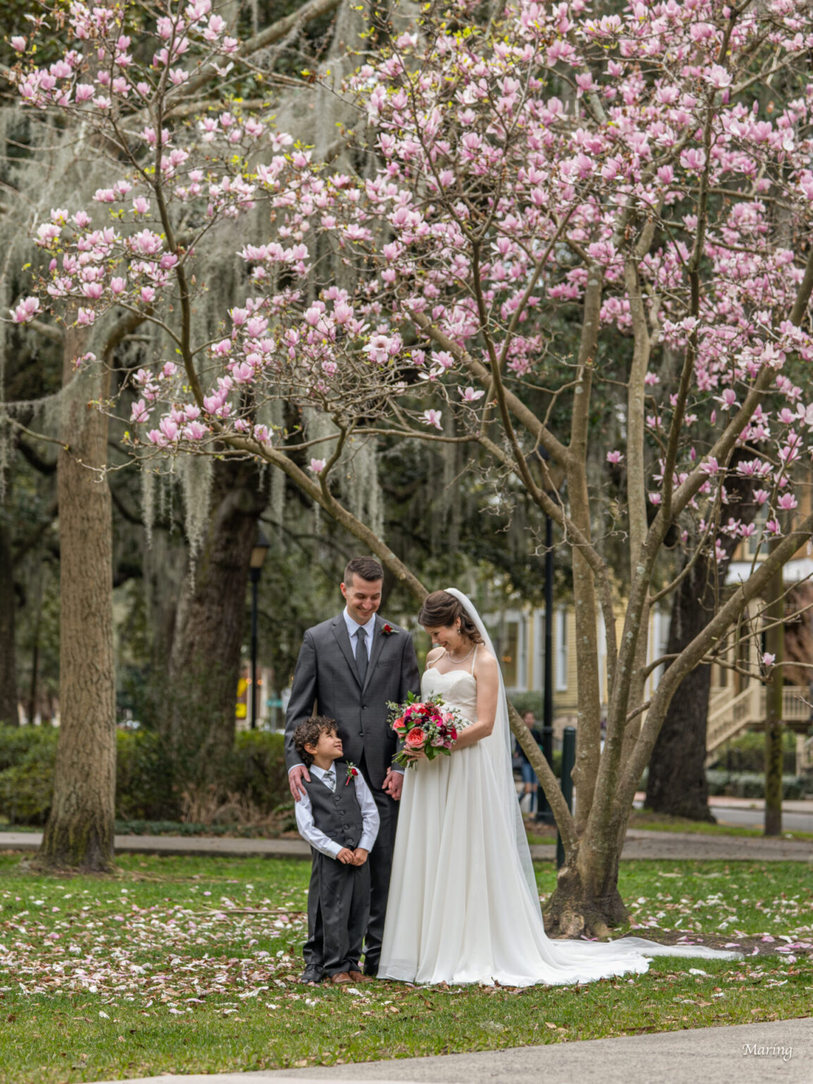
[[[704,945],[550,941],[511,771],[508,704],[488,633],[455,589],[427,597],[432,637],[421,696],[440,696],[471,724],[449,757],[415,754],[393,855],[380,979],[419,983],[589,982],[643,972],[655,955],[732,959]]]

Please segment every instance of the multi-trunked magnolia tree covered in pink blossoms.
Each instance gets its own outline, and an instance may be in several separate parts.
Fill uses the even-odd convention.
[[[14,319],[49,297],[80,323],[112,308],[160,321],[175,352],[134,376],[133,440],[279,467],[416,594],[336,495],[352,441],[470,442],[560,525],[573,552],[578,811],[528,746],[566,852],[547,918],[552,931],[606,932],[626,915],[618,855],[676,688],[813,531],[799,514],[813,403],[791,378],[813,358],[807,5],[667,0],[604,15],[582,0],[519,0],[487,28],[471,3],[430,7],[345,88],[358,172],[235,107],[196,129],[171,122],[191,42],[201,56],[236,48],[205,0],[167,9],[145,65],[131,60],[127,9],[71,12],[92,67],[90,49],[50,72],[23,67],[21,93],[82,109],[129,169],[93,210],[54,211],[40,235],[50,271]],[[259,201],[267,240],[244,245],[239,217]],[[223,220],[253,289],[221,335],[193,343],[195,251]],[[558,328],[576,321],[573,351]],[[328,417],[329,434],[263,422],[279,399]],[[603,451],[627,482],[612,520],[588,472],[591,415],[607,399],[619,438]],[[732,472],[759,481],[760,526],[730,503]],[[622,607],[611,527],[628,539]],[[665,542],[677,535],[691,564],[724,534],[757,537],[765,559],[645,701],[648,610],[676,586],[664,585]]]

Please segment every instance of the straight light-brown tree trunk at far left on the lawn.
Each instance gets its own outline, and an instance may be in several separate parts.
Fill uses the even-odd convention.
[[[65,336],[63,387],[82,380]],[[100,382],[106,385],[106,377]],[[64,397],[56,478],[60,506],[60,706],[54,796],[37,865],[107,870],[116,795],[116,678],[113,643],[113,519],[107,417],[87,405],[106,387],[76,385]]]

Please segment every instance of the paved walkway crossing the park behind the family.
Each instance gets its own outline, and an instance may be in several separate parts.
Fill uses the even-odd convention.
[[[39,831],[2,831],[0,851],[36,851],[41,840]],[[266,859],[311,856],[310,848],[301,839],[233,839],[224,836],[116,836],[116,850],[120,854],[220,854]],[[538,843],[530,848],[530,854],[538,862],[553,862],[556,848],[553,843]],[[630,828],[621,857],[813,863],[813,842]]]

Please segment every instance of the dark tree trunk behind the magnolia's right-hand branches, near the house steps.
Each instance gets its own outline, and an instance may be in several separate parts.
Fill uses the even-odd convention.
[[[710,568],[698,558],[678,588],[669,625],[668,655],[678,655],[703,632],[711,611],[703,605]],[[706,780],[706,719],[711,668],[697,667],[669,705],[650,760],[646,809],[693,821],[712,821]]]

